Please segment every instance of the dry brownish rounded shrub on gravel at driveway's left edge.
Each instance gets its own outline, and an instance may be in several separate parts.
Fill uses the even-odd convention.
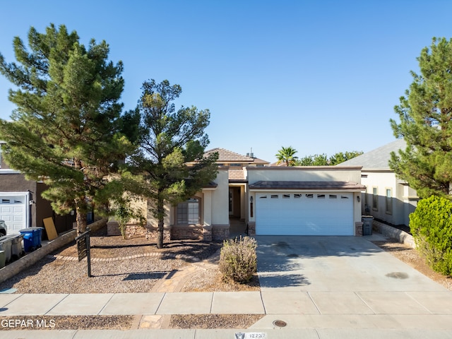
[[[220,251],[220,272],[237,283],[248,283],[257,270],[256,240],[250,237],[229,239]]]

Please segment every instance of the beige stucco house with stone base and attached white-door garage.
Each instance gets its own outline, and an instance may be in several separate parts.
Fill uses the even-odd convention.
[[[166,239],[221,240],[233,222],[249,235],[361,235],[361,167],[270,167],[252,155],[215,148],[213,183],[166,206]],[[146,232],[156,232],[148,213]]]

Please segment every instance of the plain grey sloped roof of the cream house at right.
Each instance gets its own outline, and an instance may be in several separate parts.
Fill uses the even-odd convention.
[[[379,168],[389,169],[389,159],[391,159],[391,152],[397,152],[400,149],[406,148],[405,140],[397,139],[392,143],[383,145],[375,150],[353,157],[350,160],[342,162],[336,166],[362,166],[363,169]]]

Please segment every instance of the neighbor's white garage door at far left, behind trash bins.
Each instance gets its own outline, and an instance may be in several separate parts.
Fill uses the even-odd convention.
[[[6,224],[7,234],[18,234],[25,225],[25,196],[0,196],[0,220]]]

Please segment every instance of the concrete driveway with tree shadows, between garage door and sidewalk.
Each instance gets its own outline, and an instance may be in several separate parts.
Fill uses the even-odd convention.
[[[371,237],[258,236],[261,290],[446,291],[370,242]]]

